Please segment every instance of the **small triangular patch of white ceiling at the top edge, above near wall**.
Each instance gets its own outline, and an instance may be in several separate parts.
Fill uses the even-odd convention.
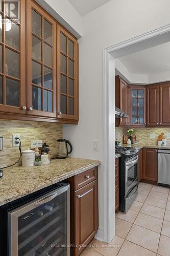
[[[68,0],[81,16],[99,8],[111,0]]]

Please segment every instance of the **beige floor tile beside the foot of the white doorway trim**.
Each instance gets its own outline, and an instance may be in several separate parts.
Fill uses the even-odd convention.
[[[115,234],[118,237],[126,238],[132,226],[132,223],[116,218],[115,220]]]

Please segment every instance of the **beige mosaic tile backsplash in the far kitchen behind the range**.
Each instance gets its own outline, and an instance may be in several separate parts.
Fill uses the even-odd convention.
[[[115,138],[123,143],[123,135],[128,135],[129,128],[116,127]],[[134,134],[136,135],[138,144],[145,144],[155,146],[157,145],[158,136],[164,133],[165,139],[167,139],[167,146],[170,146],[170,138],[167,138],[167,133],[170,133],[170,127],[156,127],[156,128],[135,128]],[[155,138],[150,138],[150,134],[155,134]]]

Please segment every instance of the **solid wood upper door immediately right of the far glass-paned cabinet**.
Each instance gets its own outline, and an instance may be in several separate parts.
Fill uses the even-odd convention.
[[[169,97],[169,95],[168,95]],[[147,86],[147,126],[159,125],[159,85]]]

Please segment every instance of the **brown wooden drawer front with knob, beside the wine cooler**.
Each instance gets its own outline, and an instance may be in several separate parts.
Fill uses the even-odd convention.
[[[75,190],[87,185],[98,178],[98,167],[86,170],[86,172],[75,176]]]

